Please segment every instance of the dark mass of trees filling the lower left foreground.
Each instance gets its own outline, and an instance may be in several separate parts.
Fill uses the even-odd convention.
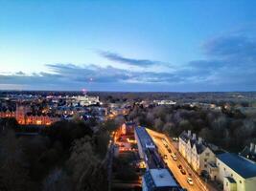
[[[101,161],[119,122],[98,124],[95,133],[95,122],[59,121],[38,135],[16,136],[15,120],[1,120],[0,190],[105,190]]]

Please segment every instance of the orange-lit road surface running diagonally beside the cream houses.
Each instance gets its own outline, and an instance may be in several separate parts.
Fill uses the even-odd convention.
[[[216,191],[215,188],[206,184],[203,180],[200,179],[198,174],[191,168],[188,162],[179,154],[178,150],[175,148],[174,142],[165,136],[164,134],[152,131],[147,129],[148,133],[150,134],[151,138],[153,139],[154,143],[158,147],[158,152],[161,156],[167,155],[168,159],[164,159],[167,163],[168,167],[172,171],[175,176],[175,179],[179,182],[181,187],[186,188],[189,191]],[[162,138],[166,139],[166,143],[168,148],[172,150],[172,153],[176,154],[177,160],[175,161],[171,154],[168,152],[167,148],[165,147]],[[178,165],[181,164],[182,168],[185,170],[186,175],[183,175],[178,168]],[[191,174],[189,176],[188,174]],[[187,181],[187,178],[191,177],[193,180],[193,185],[190,185]]]

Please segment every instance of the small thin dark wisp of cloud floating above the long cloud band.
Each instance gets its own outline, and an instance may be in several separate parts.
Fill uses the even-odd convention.
[[[118,53],[99,52],[99,54],[108,60],[132,65],[132,66],[149,67],[156,64],[163,64],[162,62],[155,61],[155,60],[128,58]]]

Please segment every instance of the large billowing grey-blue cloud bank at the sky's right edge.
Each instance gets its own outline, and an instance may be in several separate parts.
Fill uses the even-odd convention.
[[[218,85],[222,90],[255,90],[256,38],[244,33],[231,33],[207,40],[202,45],[206,58],[193,60],[179,75],[199,79],[205,84]]]

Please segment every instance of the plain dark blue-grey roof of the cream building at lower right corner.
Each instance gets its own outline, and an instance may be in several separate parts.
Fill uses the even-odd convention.
[[[218,155],[217,158],[244,179],[256,177],[256,164],[253,161],[232,153],[223,153]]]

